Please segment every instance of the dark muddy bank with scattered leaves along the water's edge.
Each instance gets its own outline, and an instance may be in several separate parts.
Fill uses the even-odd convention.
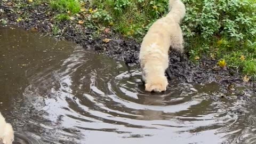
[[[14,4],[13,4],[14,5]],[[53,36],[57,39],[67,39],[85,49],[95,50],[99,53],[105,53],[109,57],[124,60],[127,63],[137,64],[140,43],[132,38],[124,38],[111,30],[95,37],[95,29],[81,26],[73,21],[56,22],[54,21],[54,12],[51,12],[46,4],[39,6],[27,6],[22,9],[5,9],[1,13],[1,19],[7,21],[7,25],[15,25],[26,30],[38,30],[45,35]],[[17,22],[17,19],[23,17],[26,13],[26,19]],[[47,14],[46,14],[47,13]],[[53,33],[53,27],[59,27],[59,33]],[[102,39],[110,38],[111,41],[105,43]],[[230,84],[251,85],[253,82],[243,82],[243,76],[233,69],[222,69],[217,67],[217,61],[202,58],[199,64],[188,60],[185,54],[185,61],[180,61],[179,54],[170,53],[170,70],[175,78],[186,83],[209,83],[212,81],[221,83],[225,86]]]

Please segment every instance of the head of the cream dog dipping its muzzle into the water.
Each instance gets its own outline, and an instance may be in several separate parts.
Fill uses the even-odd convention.
[[[167,82],[167,78],[163,77],[163,78],[156,78],[155,81],[153,82],[149,82],[145,84],[145,91],[147,92],[162,92],[162,91],[166,91],[168,82]]]

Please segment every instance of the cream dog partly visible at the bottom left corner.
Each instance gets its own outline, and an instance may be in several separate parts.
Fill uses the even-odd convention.
[[[0,113],[0,143],[12,144],[14,132],[12,126],[5,122],[5,118]]]

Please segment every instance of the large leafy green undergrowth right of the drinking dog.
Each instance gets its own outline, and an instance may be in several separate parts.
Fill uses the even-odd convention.
[[[256,73],[256,60],[253,55],[256,52],[255,1],[183,2],[186,4],[187,14],[182,23],[182,30],[191,58],[210,51],[216,53],[218,58],[225,58],[228,66],[242,69],[245,74]],[[239,59],[241,55],[246,59]]]

